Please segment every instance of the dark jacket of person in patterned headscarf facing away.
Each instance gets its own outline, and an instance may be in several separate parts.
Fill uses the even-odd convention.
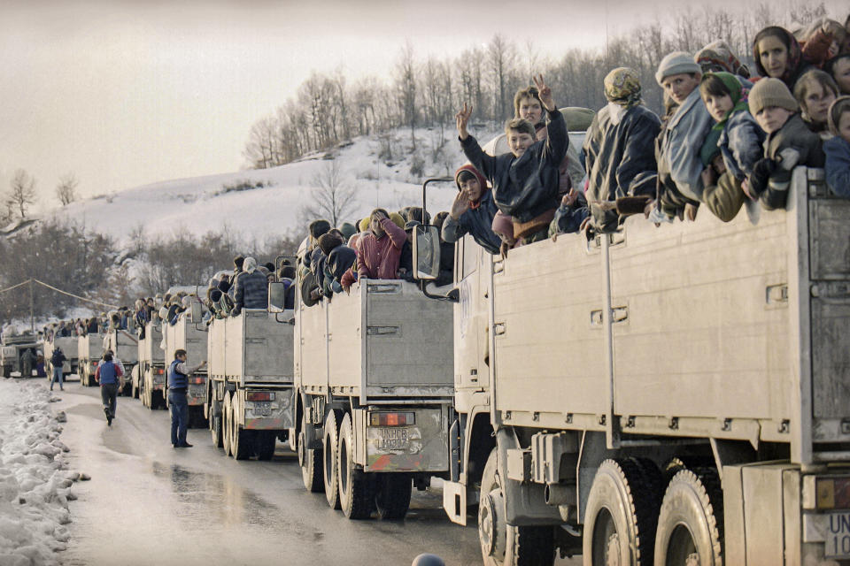
[[[633,196],[629,187],[635,176],[657,170],[654,142],[661,131],[661,120],[643,105],[619,111],[619,119],[613,111],[619,109],[609,104],[597,112],[583,145],[587,200],[593,223],[602,230],[615,228],[619,215],[616,210],[599,210],[592,204]]]

